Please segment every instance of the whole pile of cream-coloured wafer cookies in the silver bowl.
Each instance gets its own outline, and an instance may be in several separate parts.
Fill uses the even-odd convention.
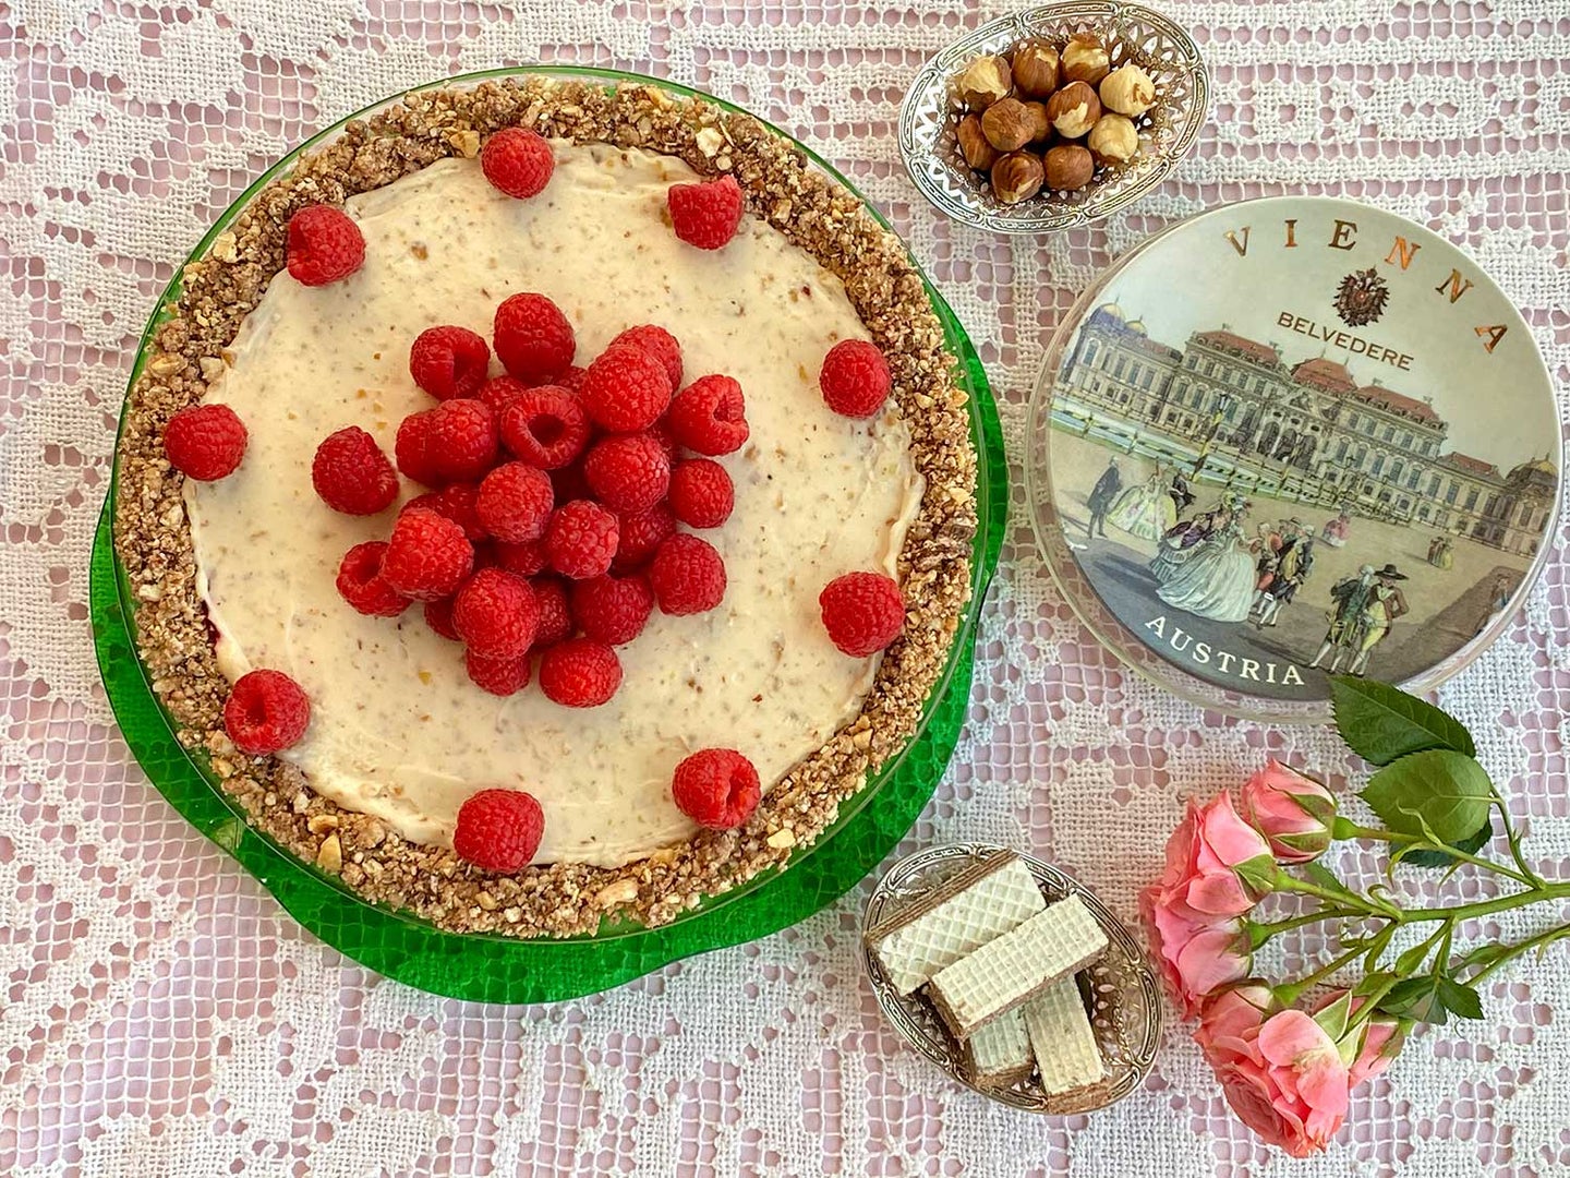
[[[978,1084],[1036,1073],[1057,1095],[1102,1077],[1079,972],[1107,935],[1079,897],[1049,905],[1017,854],[959,872],[870,930],[867,944],[900,994],[931,1001]]]

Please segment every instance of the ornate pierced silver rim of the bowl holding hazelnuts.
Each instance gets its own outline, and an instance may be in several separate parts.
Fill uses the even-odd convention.
[[[1011,35],[1011,39],[1016,41],[1033,36],[1049,20],[1140,20],[1148,24],[1181,49],[1184,55],[1181,72],[1188,79],[1192,88],[1190,99],[1187,107],[1174,118],[1176,138],[1173,143],[1156,159],[1154,165],[1145,174],[1127,187],[1119,188],[1105,199],[1096,199],[1093,195],[1074,204],[1025,201],[1017,206],[1006,206],[1008,212],[995,212],[980,204],[975,192],[962,192],[959,185],[945,188],[934,182],[933,176],[920,166],[920,162],[929,159],[933,151],[929,146],[917,141],[917,108],[928,101],[928,96],[934,90],[944,96],[942,101],[947,104],[948,77],[959,64],[959,60],[969,57],[977,47],[1002,33]],[[904,102],[900,105],[900,159],[917,190],[940,212],[953,217],[956,221],[1005,234],[1057,232],[1058,229],[1099,221],[1146,196],[1171,176],[1182,157],[1193,148],[1195,140],[1199,137],[1199,129],[1204,127],[1209,118],[1209,112],[1210,72],[1204,63],[1204,55],[1187,30],[1171,17],[1143,5],[1123,3],[1121,0],[1066,0],[1064,3],[1028,8],[991,20],[931,57],[917,72],[915,79],[912,79]]]

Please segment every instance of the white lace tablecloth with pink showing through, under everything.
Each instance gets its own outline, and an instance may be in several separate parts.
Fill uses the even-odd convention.
[[[892,215],[969,325],[1016,455],[1042,338],[1072,294],[1168,220],[1261,193],[1344,193],[1463,242],[1564,383],[1570,19],[1546,16],[1556,5],[1167,8],[1214,68],[1198,151],[1105,228],[1005,240],[928,209],[893,141],[906,82],[991,8],[0,5],[0,1172],[1570,1172],[1565,947],[1490,985],[1487,1023],[1410,1043],[1317,1161],[1258,1145],[1176,1029],[1116,1109],[1036,1120],[945,1082],[881,1026],[856,963],[865,891],[766,941],[550,1008],[382,980],[187,828],[129,759],[97,685],[88,543],[132,350],[171,265],[290,145],[458,71],[645,71],[816,146]],[[1132,919],[1184,796],[1267,752],[1345,766],[1324,730],[1229,723],[1123,674],[1047,581],[1017,487],[1014,499],[970,727],[904,850],[1031,847]],[[1524,613],[1441,693],[1557,875],[1570,873],[1565,537],[1561,520]],[[1305,939],[1294,957],[1317,949]]]

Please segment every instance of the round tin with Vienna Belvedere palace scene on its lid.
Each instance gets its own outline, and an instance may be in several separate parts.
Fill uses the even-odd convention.
[[[1424,690],[1548,542],[1553,385],[1495,283],[1353,201],[1270,198],[1149,239],[1058,327],[1031,514],[1096,636],[1234,715],[1328,718],[1330,674]]]

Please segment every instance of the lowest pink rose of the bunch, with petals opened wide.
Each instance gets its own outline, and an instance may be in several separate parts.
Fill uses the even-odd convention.
[[[1220,1040],[1210,1066],[1250,1129],[1294,1158],[1324,1150],[1347,1117],[1350,1077],[1334,1040],[1302,1010]]]

